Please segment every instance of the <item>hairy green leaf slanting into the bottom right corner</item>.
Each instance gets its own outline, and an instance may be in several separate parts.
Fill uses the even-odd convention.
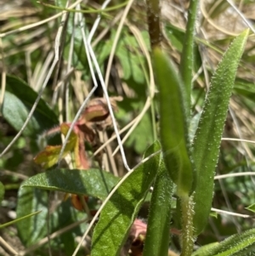
[[[199,248],[192,256],[248,256],[255,250],[255,229],[229,236],[223,242]]]

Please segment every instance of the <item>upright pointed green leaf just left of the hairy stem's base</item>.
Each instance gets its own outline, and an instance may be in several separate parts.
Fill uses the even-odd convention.
[[[161,159],[150,201],[144,256],[168,255],[173,181]]]

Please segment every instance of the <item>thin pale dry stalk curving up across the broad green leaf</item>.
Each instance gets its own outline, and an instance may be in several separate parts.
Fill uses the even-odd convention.
[[[141,162],[139,162],[139,164],[137,164],[133,169],[130,170],[130,172],[128,172],[120,181],[119,183],[112,189],[112,191],[110,192],[110,194],[105,198],[105,201],[102,203],[102,205],[100,206],[99,210],[97,211],[97,213],[94,215],[94,218],[91,220],[91,222],[88,225],[88,229],[86,230],[86,232],[83,234],[81,242],[77,245],[77,248],[75,250],[75,252],[72,254],[72,256],[76,256],[77,252],[79,250],[79,248],[82,246],[82,242],[85,240],[86,236],[88,236],[88,232],[91,230],[91,228],[93,227],[96,219],[99,217],[99,214],[102,212],[103,208],[105,208],[105,205],[107,202],[109,202],[109,200],[111,199],[111,196],[116,192],[116,190],[122,185],[122,183],[131,175],[133,174],[133,171],[137,168],[139,168],[140,165],[142,165],[144,162],[147,162],[148,160],[150,160],[151,157],[154,157],[158,154],[160,154],[161,151],[156,151],[155,153],[151,154],[150,156],[144,158]]]

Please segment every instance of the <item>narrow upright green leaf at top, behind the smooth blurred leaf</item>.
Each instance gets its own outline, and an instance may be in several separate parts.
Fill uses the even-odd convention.
[[[198,0],[190,1],[188,11],[188,22],[184,36],[183,51],[180,61],[180,75],[184,82],[185,91],[187,94],[187,107],[190,110],[190,96],[192,87],[192,69],[194,62],[194,38],[195,38],[195,21],[197,19]],[[188,113],[190,117],[190,112]]]

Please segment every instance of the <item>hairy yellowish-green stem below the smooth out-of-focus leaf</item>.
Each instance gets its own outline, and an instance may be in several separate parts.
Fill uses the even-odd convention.
[[[180,200],[182,209],[182,253],[180,256],[190,256],[193,251],[193,197],[182,196]]]

